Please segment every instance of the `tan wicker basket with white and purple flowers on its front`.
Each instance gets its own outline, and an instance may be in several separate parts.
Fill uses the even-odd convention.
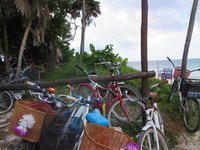
[[[44,124],[45,126],[50,125],[53,118],[55,117],[56,112],[51,110],[48,113],[45,113],[47,110],[46,105],[40,105],[40,107],[38,108],[34,106],[33,109],[30,107],[30,103],[32,102],[27,100],[16,102],[14,112],[10,120],[9,132],[11,134],[16,135],[14,129],[18,125],[19,120],[22,118],[23,115],[31,114],[35,119],[35,124],[33,128],[28,130],[28,134],[26,136],[19,136],[19,135],[16,136],[21,137],[30,142],[38,142],[43,125]],[[45,110],[45,112],[43,112],[42,110]]]

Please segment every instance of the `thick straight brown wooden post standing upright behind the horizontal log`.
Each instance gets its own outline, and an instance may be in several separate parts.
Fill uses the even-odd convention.
[[[148,24],[148,1],[142,0],[142,26],[141,26],[141,70],[148,71],[147,61],[147,24]],[[148,78],[142,78],[142,96],[147,96]]]

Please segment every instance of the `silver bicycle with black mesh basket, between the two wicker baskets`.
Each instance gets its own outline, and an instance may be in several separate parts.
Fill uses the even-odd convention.
[[[59,96],[56,97],[52,88],[43,89],[30,81],[27,81],[26,84],[32,91],[32,96],[37,98],[37,101],[48,103],[57,111],[57,114],[49,130],[44,132],[38,143],[23,140],[21,145],[24,144],[28,150],[34,150],[35,148],[38,150],[64,150],[66,147],[73,150],[79,149],[86,122],[95,122],[87,116],[91,105],[90,97],[83,98],[75,94],[70,88],[72,95],[65,95],[71,101],[69,104],[61,100]],[[96,116],[95,119],[98,117],[101,117],[100,120],[104,121],[102,124],[105,125],[105,122],[107,122],[108,125],[108,121],[102,118],[103,116]],[[95,123],[98,124],[99,122]]]

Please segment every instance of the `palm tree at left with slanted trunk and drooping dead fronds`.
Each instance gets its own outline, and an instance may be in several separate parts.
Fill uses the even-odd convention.
[[[34,0],[34,1],[26,1],[26,0],[15,0],[15,5],[22,13],[25,18],[25,32],[21,42],[20,51],[18,55],[18,63],[17,63],[17,72],[16,78],[19,76],[19,72],[22,65],[22,57],[24,53],[24,49],[26,47],[26,41],[31,31],[33,33],[33,44],[37,45],[40,42],[44,42],[44,31],[46,26],[46,21],[49,17],[48,7],[45,3],[45,0]],[[32,22],[35,20],[34,29],[32,29]]]

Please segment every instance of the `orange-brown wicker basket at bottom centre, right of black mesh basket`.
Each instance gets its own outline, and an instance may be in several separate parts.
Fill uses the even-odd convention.
[[[122,132],[87,123],[80,150],[119,150],[131,141],[133,140]]]

